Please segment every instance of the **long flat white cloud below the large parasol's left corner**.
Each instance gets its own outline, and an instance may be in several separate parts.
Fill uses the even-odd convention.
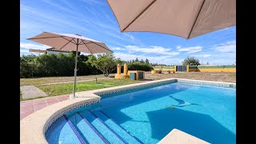
[[[140,46],[126,46],[127,50],[142,52],[147,54],[162,54],[162,55],[177,55],[178,52],[170,51],[171,48],[165,48],[162,46],[150,46],[150,47],[140,47]]]

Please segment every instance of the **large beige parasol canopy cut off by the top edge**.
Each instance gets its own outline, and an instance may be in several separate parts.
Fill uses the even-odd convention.
[[[106,0],[120,30],[194,38],[236,25],[236,0]]]

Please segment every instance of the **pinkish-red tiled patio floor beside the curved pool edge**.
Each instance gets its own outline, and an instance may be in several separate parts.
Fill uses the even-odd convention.
[[[20,102],[20,120],[46,106],[50,106],[57,102],[65,101],[70,97],[69,95],[70,94],[65,94],[55,97],[38,98]]]

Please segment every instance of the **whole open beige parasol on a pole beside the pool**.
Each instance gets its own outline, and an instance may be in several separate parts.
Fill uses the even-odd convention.
[[[83,37],[80,34],[58,34],[58,33],[49,33],[43,32],[28,40],[39,42],[47,46],[52,46],[58,50],[70,50],[76,51],[75,57],[75,67],[74,67],[74,90],[73,97],[75,97],[75,86],[76,86],[76,77],[77,77],[77,62],[78,62],[78,52],[85,52],[89,54],[96,53],[113,53],[106,44],[98,42],[94,39]]]

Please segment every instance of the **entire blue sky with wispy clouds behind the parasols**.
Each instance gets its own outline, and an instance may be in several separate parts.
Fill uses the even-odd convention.
[[[236,62],[236,26],[186,40],[151,32],[121,33],[106,0],[22,0],[20,8],[20,55],[32,54],[29,49],[49,48],[26,40],[48,31],[82,34],[104,42],[122,60],[148,58],[150,62],[178,65],[193,56],[204,64]]]

